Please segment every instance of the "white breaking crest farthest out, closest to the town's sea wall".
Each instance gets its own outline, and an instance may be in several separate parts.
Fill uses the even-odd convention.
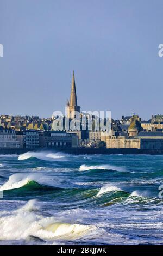
[[[64,154],[60,153],[47,153],[47,152],[27,152],[18,156],[18,160],[26,160],[30,159],[31,157],[36,157],[37,159],[41,160],[53,160],[53,159],[61,159],[65,157]]]

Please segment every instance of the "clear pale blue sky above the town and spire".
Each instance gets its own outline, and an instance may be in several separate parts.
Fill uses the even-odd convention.
[[[51,117],[70,96],[112,117],[163,114],[162,0],[0,0],[0,114]]]

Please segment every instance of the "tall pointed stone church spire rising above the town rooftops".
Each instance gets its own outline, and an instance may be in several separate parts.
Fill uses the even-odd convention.
[[[75,118],[76,114],[74,112],[80,113],[80,107],[78,106],[78,103],[77,103],[76,83],[75,83],[74,71],[73,71],[70,102],[67,101],[67,118],[71,118],[71,119]]]

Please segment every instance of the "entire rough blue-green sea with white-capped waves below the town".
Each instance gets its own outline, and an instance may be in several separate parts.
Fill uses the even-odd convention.
[[[0,244],[163,244],[160,185],[161,155],[0,155]]]

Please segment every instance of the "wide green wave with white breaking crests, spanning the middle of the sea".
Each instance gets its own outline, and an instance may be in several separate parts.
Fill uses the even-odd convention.
[[[58,202],[67,204],[66,202],[70,202],[71,198],[69,205],[72,208],[75,205],[80,207],[83,204],[101,207],[112,204],[161,202],[161,199],[150,197],[148,191],[127,192],[114,183],[105,184],[101,188],[62,188],[60,185],[42,184],[45,176],[42,176],[41,179],[39,176],[38,174],[24,175],[24,173],[11,175],[9,180],[0,187],[0,191],[3,191],[5,199],[8,200],[21,199],[22,197],[29,200],[36,198],[36,196],[40,196],[40,200],[42,200],[42,196],[48,196],[49,199],[58,198]]]

